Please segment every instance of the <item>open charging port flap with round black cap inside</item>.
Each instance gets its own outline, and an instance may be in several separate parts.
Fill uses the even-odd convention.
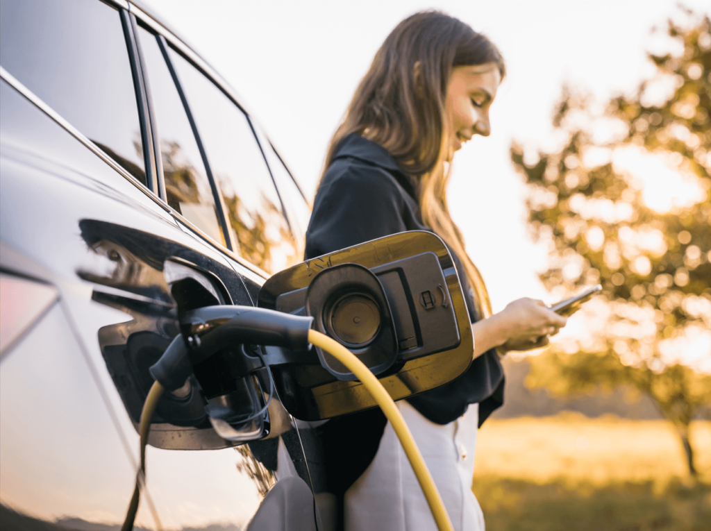
[[[454,380],[471,363],[474,340],[459,277],[431,232],[401,232],[285,269],[262,286],[259,306],[314,317],[315,328],[355,353],[395,399]],[[306,353],[266,350],[270,359],[294,358],[272,367],[294,417],[318,420],[375,406],[321,349],[310,363]]]

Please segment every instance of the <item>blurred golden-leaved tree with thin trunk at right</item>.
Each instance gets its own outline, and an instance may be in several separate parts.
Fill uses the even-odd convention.
[[[550,245],[547,289],[604,288],[581,311],[586,333],[531,358],[527,384],[564,395],[636,387],[674,424],[696,476],[689,425],[711,400],[711,21],[685,15],[688,26],[666,29],[678,53],[648,55],[656,75],[634,96],[595,112],[564,89],[553,118],[562,148],[513,144],[511,158],[530,228]]]

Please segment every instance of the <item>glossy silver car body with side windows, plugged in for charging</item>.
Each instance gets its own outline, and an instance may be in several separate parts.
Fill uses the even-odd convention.
[[[0,21],[0,517],[117,529],[146,364],[178,313],[256,304],[301,260],[309,205],[234,90],[144,6],[3,0]],[[268,430],[228,441],[190,381],[169,395],[137,527],[333,528],[318,441],[279,397]]]

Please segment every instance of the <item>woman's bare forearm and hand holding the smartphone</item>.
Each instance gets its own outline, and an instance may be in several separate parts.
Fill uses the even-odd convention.
[[[559,316],[536,299],[518,299],[503,311],[471,328],[474,332],[474,357],[494,347],[503,350],[531,350],[548,344],[548,336],[554,336],[565,326],[567,318]]]

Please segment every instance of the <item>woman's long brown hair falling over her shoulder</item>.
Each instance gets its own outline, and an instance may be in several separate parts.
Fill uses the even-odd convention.
[[[387,149],[402,171],[417,178],[422,221],[459,256],[479,318],[491,316],[491,303],[447,208],[451,141],[444,103],[455,67],[485,63],[495,63],[501,77],[506,73],[496,46],[458,19],[438,11],[405,18],[387,36],[355,90],[324,164],[325,173],[338,144],[359,134]]]

